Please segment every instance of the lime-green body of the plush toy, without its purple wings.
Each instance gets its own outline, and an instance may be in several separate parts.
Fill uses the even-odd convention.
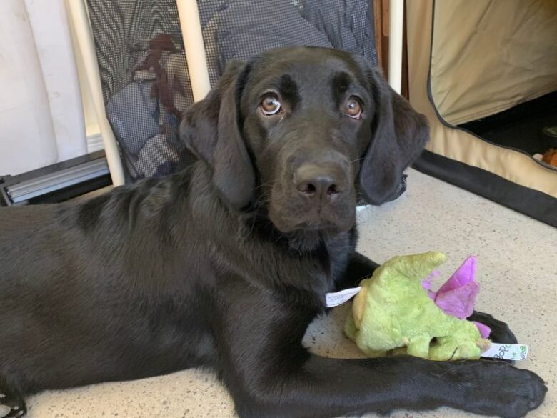
[[[346,320],[348,337],[370,357],[479,359],[490,343],[478,327],[443,312],[423,289],[422,280],[443,262],[444,254],[428,252],[394,257],[379,267],[361,282]]]

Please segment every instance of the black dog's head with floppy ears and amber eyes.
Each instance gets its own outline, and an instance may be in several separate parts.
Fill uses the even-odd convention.
[[[181,136],[234,209],[256,202],[283,233],[342,232],[356,201],[403,192],[426,119],[359,56],[288,47],[229,64]]]

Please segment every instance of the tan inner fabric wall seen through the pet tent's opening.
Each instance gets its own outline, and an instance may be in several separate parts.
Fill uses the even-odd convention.
[[[557,90],[556,0],[441,0],[434,9],[431,93],[448,123]]]

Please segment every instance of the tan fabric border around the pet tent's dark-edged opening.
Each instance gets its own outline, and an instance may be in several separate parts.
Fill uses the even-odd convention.
[[[406,11],[410,101],[431,124],[427,149],[557,198],[557,171],[541,166],[526,154],[441,124],[428,98],[433,0],[407,0]]]

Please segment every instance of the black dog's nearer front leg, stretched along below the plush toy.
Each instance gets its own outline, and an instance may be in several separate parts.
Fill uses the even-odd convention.
[[[325,418],[443,405],[518,418],[546,393],[536,374],[502,362],[318,357],[301,345],[315,312],[283,304],[273,292],[229,290],[240,292],[241,299],[232,299],[241,303],[223,311],[219,371],[241,418]]]

